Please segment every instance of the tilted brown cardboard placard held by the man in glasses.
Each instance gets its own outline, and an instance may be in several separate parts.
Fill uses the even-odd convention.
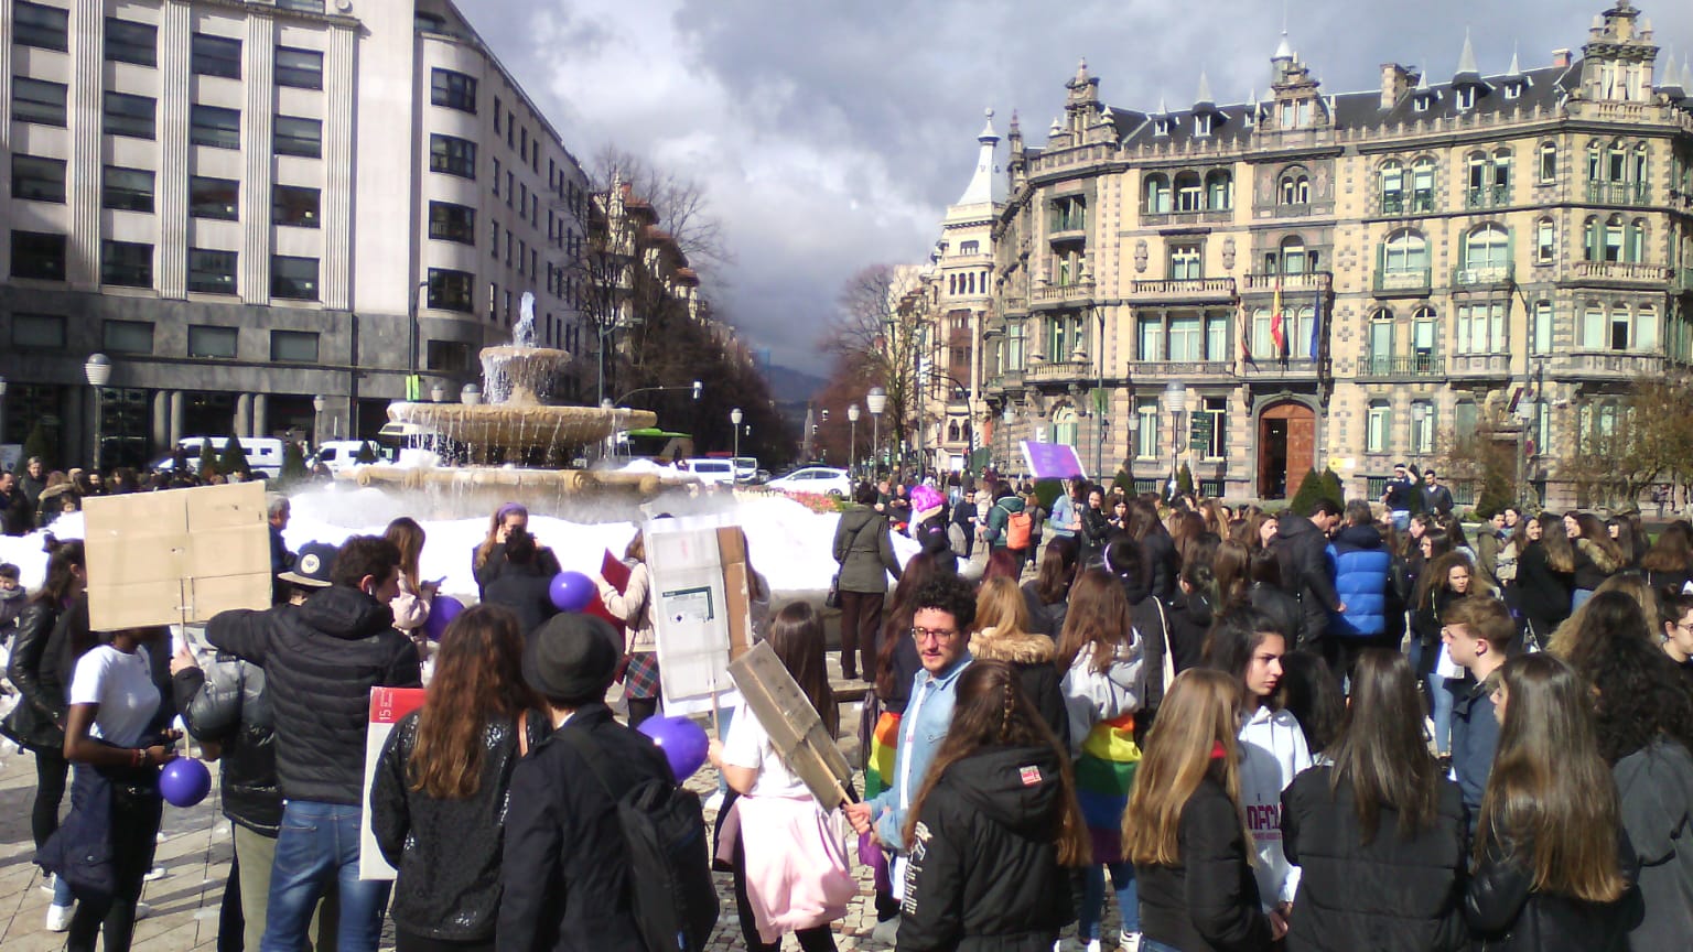
[[[770,735],[770,745],[819,805],[835,808],[858,800],[848,786],[852,767],[846,756],[835,745],[818,708],[767,642],[752,645],[747,654],[731,661],[730,678]]]

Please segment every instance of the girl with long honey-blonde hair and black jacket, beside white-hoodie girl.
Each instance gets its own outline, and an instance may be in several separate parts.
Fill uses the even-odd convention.
[[[1253,877],[1234,739],[1241,703],[1231,674],[1183,671],[1146,737],[1122,815],[1141,949],[1258,952],[1287,932],[1280,913],[1263,913]]]

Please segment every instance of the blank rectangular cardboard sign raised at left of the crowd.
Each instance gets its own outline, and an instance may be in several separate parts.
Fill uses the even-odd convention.
[[[259,483],[93,496],[83,503],[83,544],[97,632],[271,606]]]

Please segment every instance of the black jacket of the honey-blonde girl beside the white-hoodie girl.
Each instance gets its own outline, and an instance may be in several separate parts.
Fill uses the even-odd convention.
[[[1207,772],[1182,806],[1180,866],[1136,862],[1141,935],[1182,952],[1268,952],[1241,811]]]

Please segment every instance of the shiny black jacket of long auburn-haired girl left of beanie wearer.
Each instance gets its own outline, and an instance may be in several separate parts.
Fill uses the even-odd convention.
[[[488,940],[499,918],[506,796],[518,766],[516,725],[506,718],[486,723],[476,793],[437,800],[411,789],[408,772],[420,713],[411,711],[394,725],[371,786],[371,833],[383,859],[400,871],[391,915],[394,925],[411,935]],[[527,720],[533,749],[540,744],[543,718],[530,715]]]

